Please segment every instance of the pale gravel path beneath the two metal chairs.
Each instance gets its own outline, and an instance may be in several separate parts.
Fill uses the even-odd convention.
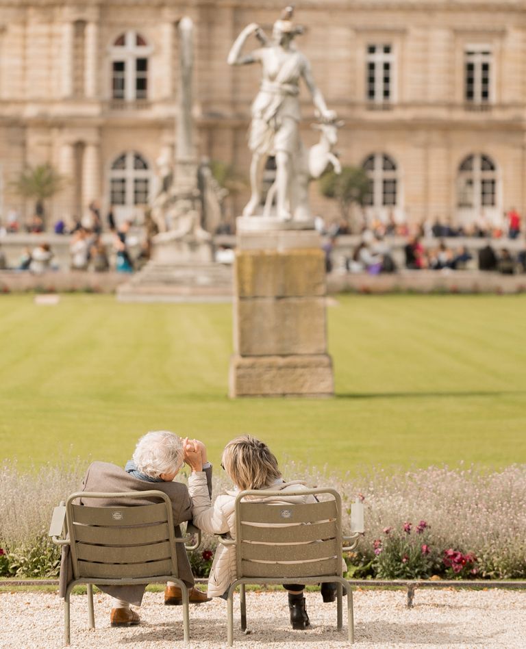
[[[182,647],[181,607],[164,607],[162,593],[147,593],[139,612],[140,626],[111,628],[110,600],[95,595],[95,631],[88,631],[86,596],[71,598],[73,648]],[[344,600],[345,601],[345,600]],[[356,591],[355,641],[364,649],[386,647],[526,646],[524,591],[416,591],[414,608],[405,607],[405,591]],[[237,600],[238,602],[238,600]],[[238,615],[238,603],[234,611]],[[190,607],[190,644],[195,648],[223,647],[226,641],[226,602],[212,600]],[[336,608],[323,605],[318,593],[307,594],[312,628],[292,631],[286,594],[248,592],[250,635],[234,632],[234,646],[273,649],[347,646],[347,626],[336,631]],[[62,600],[57,594],[0,593],[0,647],[62,647]],[[347,614],[344,613],[344,621]]]

